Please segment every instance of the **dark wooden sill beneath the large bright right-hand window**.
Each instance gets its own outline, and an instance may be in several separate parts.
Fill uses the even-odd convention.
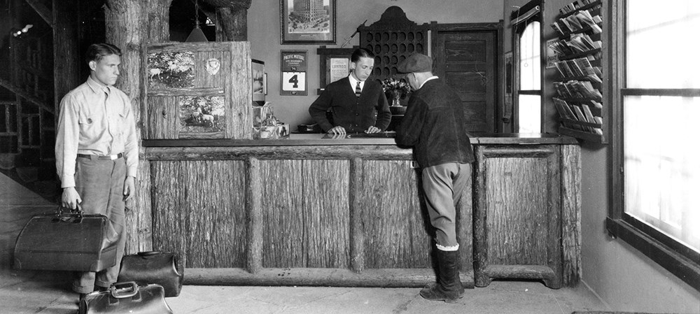
[[[700,291],[700,261],[692,261],[622,219],[605,221],[610,236],[629,243],[664,269]]]

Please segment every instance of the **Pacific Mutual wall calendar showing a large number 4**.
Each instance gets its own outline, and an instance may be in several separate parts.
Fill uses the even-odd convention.
[[[279,94],[307,95],[307,50],[282,50]]]

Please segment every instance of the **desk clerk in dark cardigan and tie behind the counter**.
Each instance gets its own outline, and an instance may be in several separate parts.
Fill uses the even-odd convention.
[[[379,82],[367,80],[374,67],[374,54],[365,48],[358,48],[353,51],[350,61],[350,75],[325,87],[321,96],[309,106],[311,117],[324,132],[332,134],[378,133],[386,130],[391,121],[391,111],[384,90]],[[329,109],[333,124],[325,116]]]

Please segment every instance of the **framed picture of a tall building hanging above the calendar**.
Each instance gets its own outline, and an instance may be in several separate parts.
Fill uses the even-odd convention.
[[[280,43],[335,44],[336,0],[279,0]]]

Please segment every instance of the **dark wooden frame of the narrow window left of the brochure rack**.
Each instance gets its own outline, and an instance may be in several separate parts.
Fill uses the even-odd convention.
[[[531,8],[539,6],[540,10],[538,13],[527,17],[525,20],[521,20],[517,23],[511,24],[512,28],[512,53],[513,53],[513,94],[512,94],[512,131],[520,130],[520,95],[537,95],[540,97],[540,132],[545,129],[545,115],[544,115],[544,101],[542,100],[542,87],[545,86],[545,73],[540,66],[540,89],[539,90],[521,90],[520,89],[520,37],[523,35],[528,24],[531,22],[540,23],[540,65],[546,64],[546,58],[543,57],[545,54],[545,41],[542,38],[542,27],[544,26],[544,21],[542,20],[542,10],[544,9],[544,3],[541,0],[532,0],[522,6],[519,10],[514,10],[511,15],[511,21],[519,17],[519,13],[525,14],[526,11]],[[520,15],[521,16],[521,15]]]

